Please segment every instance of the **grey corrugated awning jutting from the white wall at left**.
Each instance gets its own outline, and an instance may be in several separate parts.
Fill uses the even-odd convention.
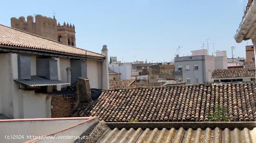
[[[39,76],[32,76],[31,80],[14,80],[30,87],[41,87],[41,86],[55,86],[55,85],[67,85],[70,83],[59,81],[59,80],[48,80]]]

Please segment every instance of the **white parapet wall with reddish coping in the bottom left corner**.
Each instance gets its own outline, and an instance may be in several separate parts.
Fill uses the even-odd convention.
[[[1,143],[74,143],[98,122],[96,117],[0,120],[0,141]]]

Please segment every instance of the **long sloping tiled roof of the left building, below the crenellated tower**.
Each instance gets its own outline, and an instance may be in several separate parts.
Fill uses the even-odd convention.
[[[57,41],[40,37],[25,31],[0,25],[0,45],[25,48],[29,50],[45,50],[77,56],[104,58],[101,54],[79,49]]]

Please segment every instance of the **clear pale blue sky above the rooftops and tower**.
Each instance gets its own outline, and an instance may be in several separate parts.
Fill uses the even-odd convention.
[[[231,46],[236,46],[235,56],[245,56],[247,45],[233,38],[243,0],[4,0],[0,11],[0,24],[7,26],[11,17],[53,17],[55,11],[58,22],[75,25],[77,47],[101,52],[106,44],[109,56],[125,62],[170,61],[179,45],[186,56],[202,49],[207,38],[228,57]]]

